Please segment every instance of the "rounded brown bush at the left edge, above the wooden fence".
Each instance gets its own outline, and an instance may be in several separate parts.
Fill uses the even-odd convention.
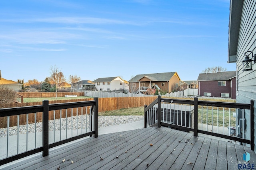
[[[0,86],[0,104],[11,104],[17,100],[16,92],[6,86]]]

